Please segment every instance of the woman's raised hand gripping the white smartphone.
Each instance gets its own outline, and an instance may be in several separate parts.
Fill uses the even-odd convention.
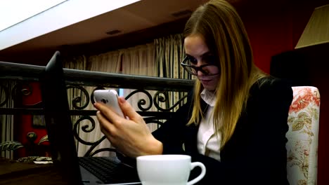
[[[98,109],[96,116],[101,131],[111,144],[129,157],[162,154],[162,143],[153,137],[143,118],[124,97],[119,97],[119,104],[129,120],[118,116],[103,103],[93,104]]]

